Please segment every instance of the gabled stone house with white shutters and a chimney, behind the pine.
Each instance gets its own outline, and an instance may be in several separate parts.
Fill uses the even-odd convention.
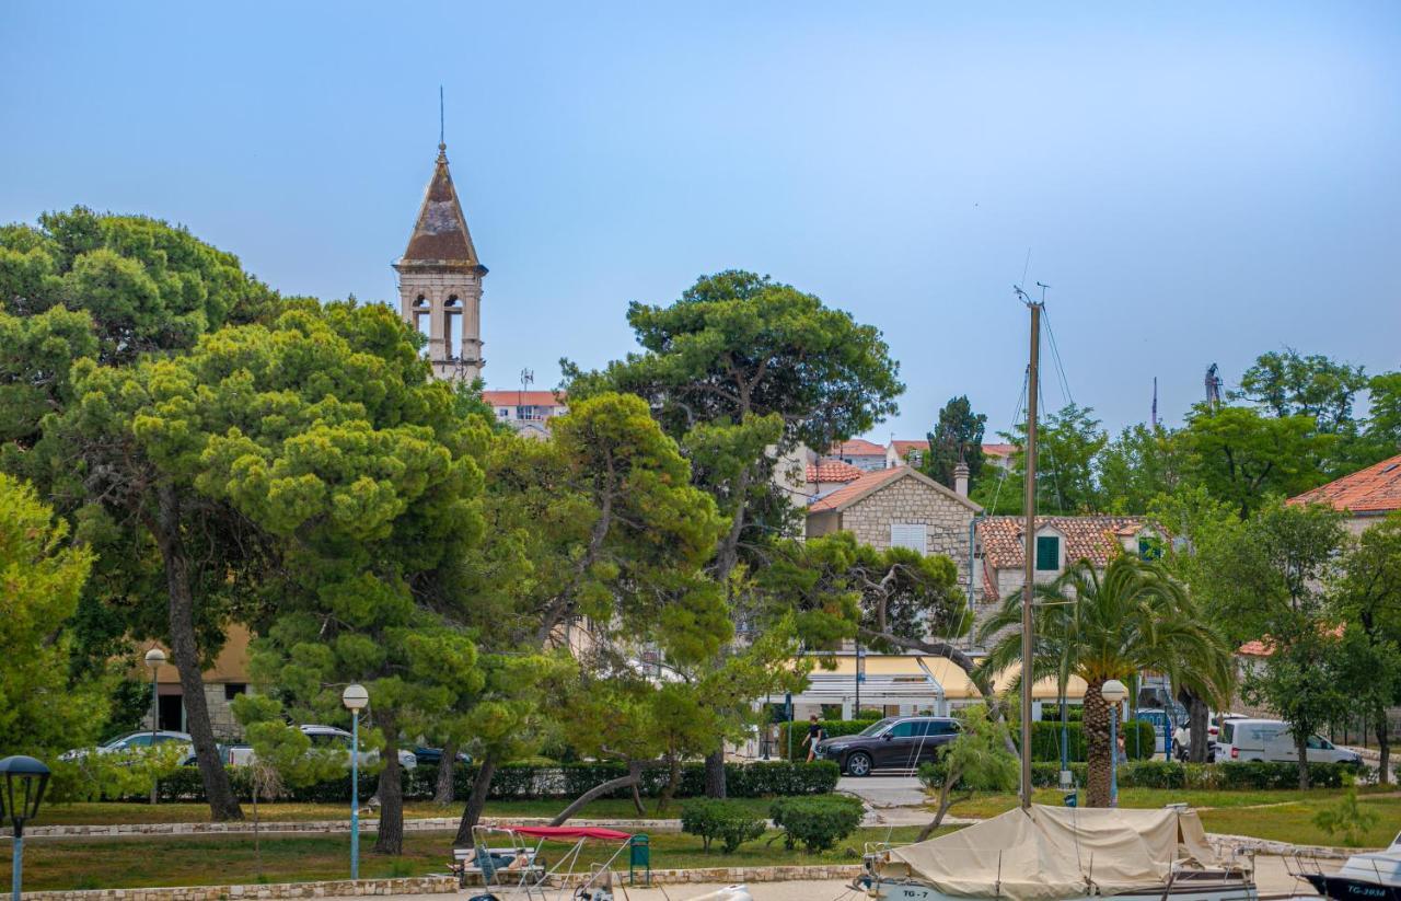
[[[967,492],[967,479],[961,482]],[[807,537],[849,531],[878,551],[891,546],[943,553],[958,568],[967,590],[972,560],[972,523],[982,507],[911,467],[867,472],[807,509]],[[976,587],[976,586],[974,586]]]

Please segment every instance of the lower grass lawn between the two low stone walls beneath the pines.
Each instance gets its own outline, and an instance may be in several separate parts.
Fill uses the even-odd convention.
[[[857,863],[864,842],[909,842],[918,830],[859,830],[835,849],[820,855],[785,851],[783,842],[766,845],[769,837],[752,841],[733,855],[719,851],[705,853],[700,839],[692,835],[657,834],[651,837],[653,869],[705,866],[765,866],[803,863]],[[279,837],[262,841],[262,881],[310,881],[349,876],[349,837],[311,835]],[[402,858],[381,858],[370,852],[374,837],[361,837],[360,876],[423,876],[443,873],[451,859],[451,832],[409,832]],[[602,862],[612,845],[590,842],[580,856],[577,870]],[[555,862],[569,849],[566,844],[546,842],[545,859]],[[10,855],[0,862],[0,884],[10,883]],[[626,870],[626,852],[619,858]],[[24,842],[24,887],[35,890],[76,890],[143,886],[202,886],[256,883],[258,867],[252,837],[142,837],[104,839],[28,838]]]

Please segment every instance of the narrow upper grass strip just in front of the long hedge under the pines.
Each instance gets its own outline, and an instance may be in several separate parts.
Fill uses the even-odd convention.
[[[736,799],[750,807],[757,814],[768,816],[769,799],[745,797]],[[488,817],[553,817],[565,809],[567,800],[534,800],[534,802],[489,802],[486,804]],[[674,818],[681,816],[681,802],[672,802],[671,807],[657,811],[653,799],[643,802],[647,813],[646,818]],[[265,823],[293,823],[304,820],[349,820],[349,804],[259,804],[259,817]],[[432,802],[409,802],[403,806],[403,816],[413,817],[457,817],[462,813],[462,804],[448,804],[447,807]],[[252,804],[244,804],[244,816],[254,817]],[[626,799],[602,799],[590,803],[581,813],[584,818],[637,818],[637,810]],[[46,804],[39,811],[39,818],[34,825],[59,824],[119,824],[119,823],[209,823],[209,804],[142,804],[142,803],[74,803],[74,804]]]

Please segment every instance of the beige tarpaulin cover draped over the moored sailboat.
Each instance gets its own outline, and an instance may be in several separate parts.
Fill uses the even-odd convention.
[[[1217,866],[1192,810],[1033,804],[890,852],[881,876],[950,895],[1047,901],[1161,887],[1174,862]]]

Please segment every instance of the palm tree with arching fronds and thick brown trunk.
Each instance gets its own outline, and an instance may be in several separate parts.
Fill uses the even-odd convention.
[[[1121,553],[1101,575],[1079,560],[1034,591],[1034,677],[1054,675],[1062,695],[1072,675],[1086,682],[1084,740],[1089,806],[1110,803],[1110,708],[1100,689],[1140,670],[1166,673],[1174,687],[1224,699],[1234,678],[1230,647],[1208,625],[1180,582],[1154,562]],[[1021,591],[978,631],[1005,632],[979,664],[985,677],[1021,661]]]

